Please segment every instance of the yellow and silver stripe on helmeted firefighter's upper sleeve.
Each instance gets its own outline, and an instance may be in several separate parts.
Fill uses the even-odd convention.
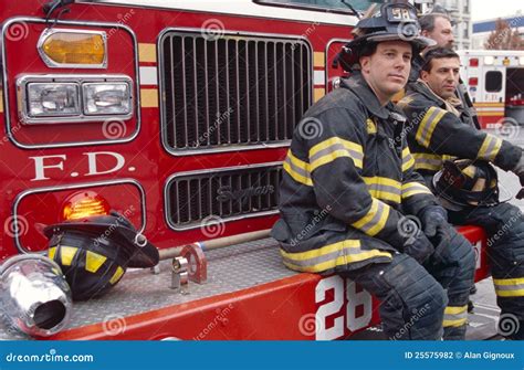
[[[318,167],[343,157],[353,159],[355,167],[363,168],[364,149],[361,145],[339,137],[332,137],[310,149],[310,170],[313,172]]]

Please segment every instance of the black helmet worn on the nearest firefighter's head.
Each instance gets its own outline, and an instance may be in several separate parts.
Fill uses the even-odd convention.
[[[413,49],[413,55],[436,42],[420,35],[417,9],[408,2],[384,3],[370,17],[361,19],[354,30],[355,39],[343,46],[337,62],[348,72],[358,63],[366,44],[382,41],[406,41]]]

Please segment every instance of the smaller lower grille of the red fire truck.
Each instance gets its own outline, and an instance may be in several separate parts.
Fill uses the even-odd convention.
[[[277,212],[282,165],[175,176],[167,186],[168,216],[176,230]]]

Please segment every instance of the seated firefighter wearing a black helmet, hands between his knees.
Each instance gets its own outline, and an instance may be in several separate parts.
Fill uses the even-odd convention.
[[[400,136],[405,117],[390,98],[430,41],[398,33],[388,17],[398,8],[417,22],[411,6],[389,3],[360,20],[345,46],[347,65],[360,71],[298,124],[272,235],[289,268],[349,277],[381,300],[389,338],[463,339],[474,254],[413,171]]]

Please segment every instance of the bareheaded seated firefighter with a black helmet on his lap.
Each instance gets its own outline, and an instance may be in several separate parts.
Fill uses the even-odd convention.
[[[459,68],[459,55],[452,50],[430,50],[425,55],[420,78],[408,85],[408,93],[399,102],[399,107],[409,119],[406,131],[415,169],[428,183],[439,180],[436,184],[440,183],[442,188],[441,195],[446,199],[450,221],[480,225],[486,231],[493,283],[502,309],[500,325],[504,315],[510,315],[516,330],[507,335],[522,339],[524,220],[518,208],[499,202],[496,172],[490,175],[494,170],[490,170],[489,163],[514,172],[524,184],[523,150],[468,124],[471,121],[468,110],[454,94]],[[447,180],[451,177],[460,181],[442,187],[446,179],[432,178],[442,169],[447,156],[469,159],[470,162],[447,162],[443,169]],[[453,172],[458,176],[453,177]],[[462,191],[457,189],[459,184],[464,186]]]

